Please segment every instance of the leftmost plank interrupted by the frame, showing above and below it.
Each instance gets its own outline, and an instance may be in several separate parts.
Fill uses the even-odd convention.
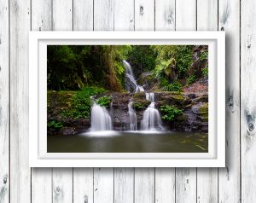
[[[52,29],[52,3],[50,0],[32,1],[31,22],[32,31],[49,31]],[[31,193],[32,203],[52,202],[51,168],[32,168]]]

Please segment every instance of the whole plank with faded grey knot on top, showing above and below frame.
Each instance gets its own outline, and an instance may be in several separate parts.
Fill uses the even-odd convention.
[[[175,1],[155,1],[155,30],[175,30]],[[175,202],[175,169],[155,168],[155,203]]]

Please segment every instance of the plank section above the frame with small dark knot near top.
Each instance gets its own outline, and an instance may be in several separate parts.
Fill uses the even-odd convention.
[[[154,30],[154,0],[135,0],[135,30]]]

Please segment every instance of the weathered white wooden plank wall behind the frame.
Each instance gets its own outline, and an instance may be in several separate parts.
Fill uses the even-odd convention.
[[[255,10],[254,0],[0,0],[0,203],[255,202]],[[226,167],[30,169],[30,30],[224,30]]]

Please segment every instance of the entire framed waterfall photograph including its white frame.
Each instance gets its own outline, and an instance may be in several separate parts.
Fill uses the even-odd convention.
[[[31,167],[224,167],[224,32],[30,32]]]

